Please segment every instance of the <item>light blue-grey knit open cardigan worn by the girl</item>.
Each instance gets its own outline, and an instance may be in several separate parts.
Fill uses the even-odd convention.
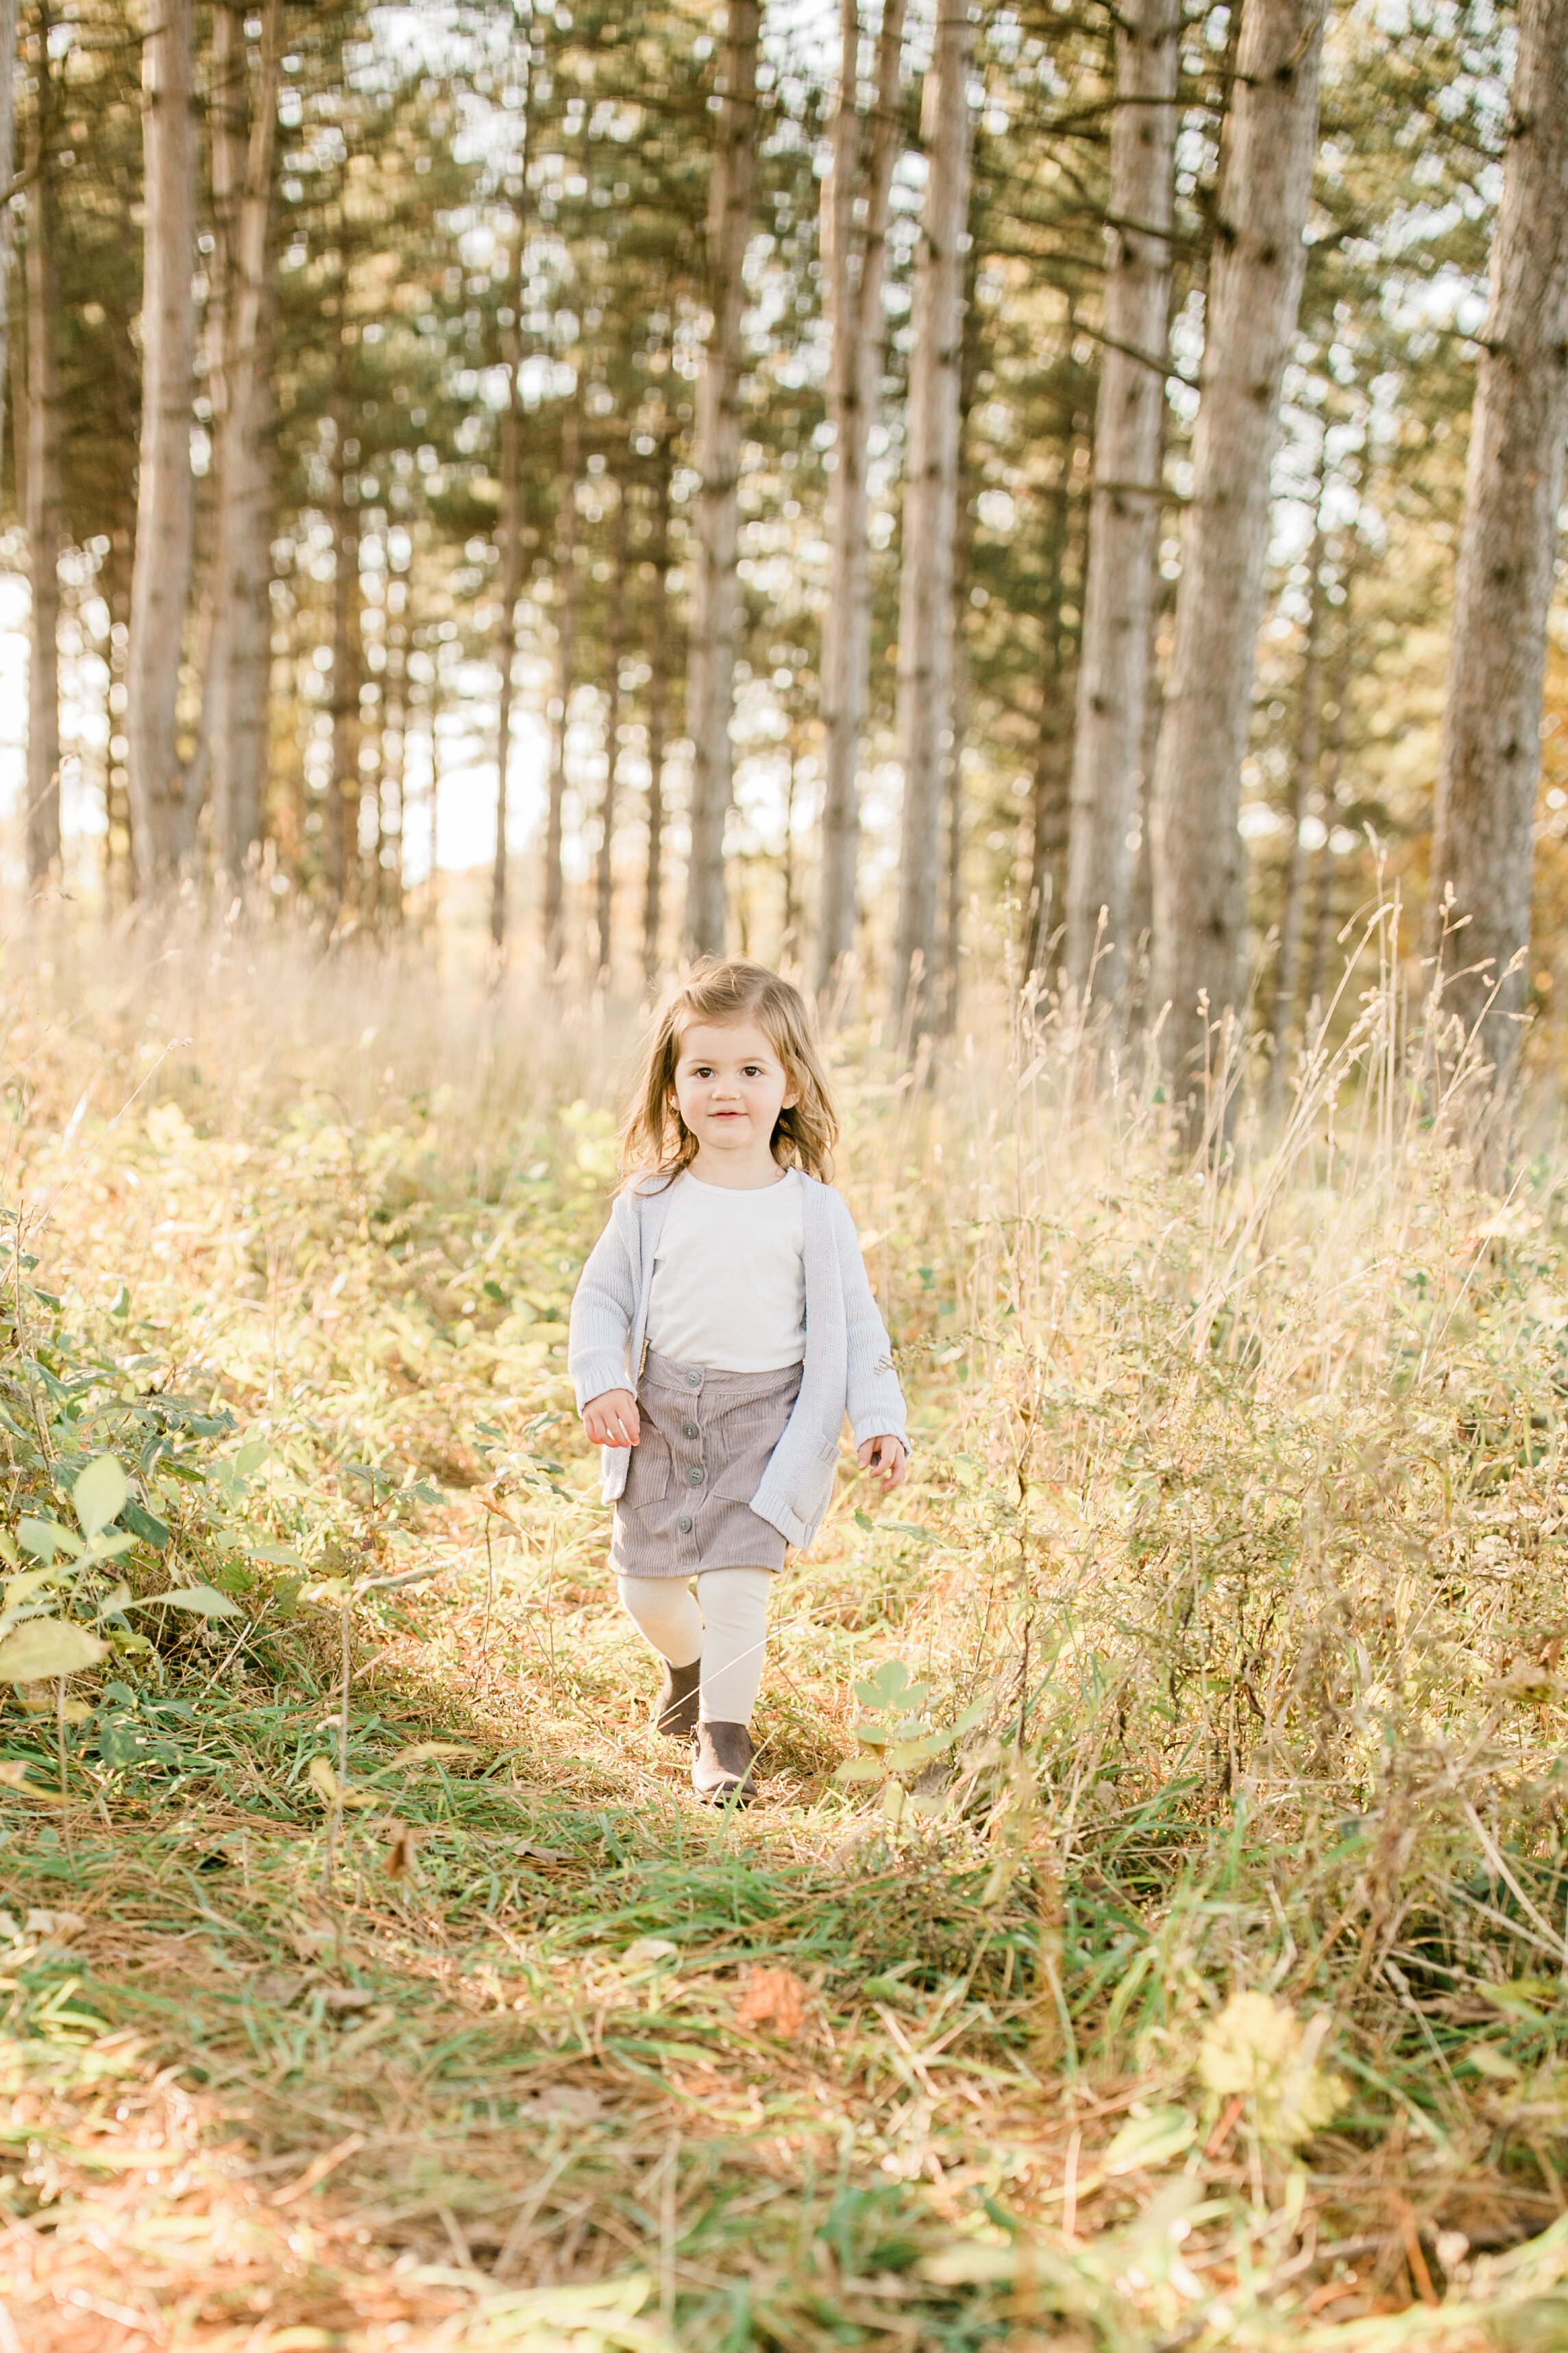
[[[628,1186],[592,1245],[571,1299],[567,1362],[578,1412],[607,1388],[637,1388],[649,1327],[654,1259],[670,1205],[656,1179]],[[795,1412],[773,1447],[752,1511],[788,1544],[806,1546],[823,1525],[849,1412],[856,1447],[905,1438],[905,1407],[886,1327],[865,1280],[860,1235],[830,1184],[804,1179],[806,1362]],[[625,1489],[630,1454],[604,1447],[604,1501]]]

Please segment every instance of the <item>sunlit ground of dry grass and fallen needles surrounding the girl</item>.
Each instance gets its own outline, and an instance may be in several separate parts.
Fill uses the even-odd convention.
[[[1559,1179],[1394,1019],[1227,1184],[990,1033],[842,1052],[914,1475],[712,1814],[564,1372],[630,1024],[33,951],[5,1527],[132,1497],[0,1715],[0,2353],[1568,2344]]]

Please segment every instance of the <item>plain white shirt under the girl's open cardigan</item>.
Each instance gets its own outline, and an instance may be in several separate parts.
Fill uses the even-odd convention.
[[[736,1193],[689,1172],[670,1186],[649,1348],[710,1372],[783,1372],[806,1355],[806,1205],[799,1169]]]

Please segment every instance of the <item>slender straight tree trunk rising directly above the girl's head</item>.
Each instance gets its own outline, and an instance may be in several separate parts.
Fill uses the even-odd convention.
[[[686,946],[724,953],[724,819],[733,788],[729,720],[741,642],[741,313],[745,247],[757,188],[759,0],[729,0],[724,99],[708,198],[708,301],[712,325],[696,388],[693,466],[696,586],[686,701],[691,729],[691,852],[686,859]]]

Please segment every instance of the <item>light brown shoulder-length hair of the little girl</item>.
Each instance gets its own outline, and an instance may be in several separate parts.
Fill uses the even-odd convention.
[[[785,1066],[795,1104],[778,1113],[773,1160],[832,1181],[832,1146],[839,1122],[827,1092],[827,1073],[816,1042],[816,1021],[799,988],[766,965],[745,958],[705,955],[661,1007],[646,1061],[621,1127],[621,1167],[630,1181],[672,1181],[696,1160],[698,1141],[675,1108],[675,1066],[693,1021],[755,1021]]]

